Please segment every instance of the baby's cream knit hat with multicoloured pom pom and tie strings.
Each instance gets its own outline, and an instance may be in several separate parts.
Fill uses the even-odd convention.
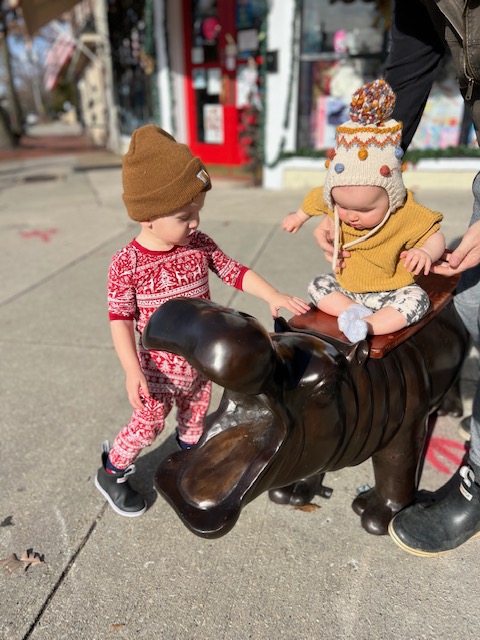
[[[336,146],[325,163],[327,176],[323,198],[335,211],[332,189],[340,186],[372,185],[383,187],[389,208],[385,218],[368,234],[343,246],[344,249],[372,236],[403,205],[406,189],[402,179],[402,123],[390,119],[395,94],[385,80],[375,80],[353,94],[350,120],[337,127]],[[338,217],[335,213],[338,227]],[[338,232],[336,233],[338,236]],[[336,254],[334,251],[334,262]]]

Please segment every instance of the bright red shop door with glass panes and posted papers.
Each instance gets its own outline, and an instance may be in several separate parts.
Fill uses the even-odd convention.
[[[206,163],[249,162],[266,0],[183,0],[189,145]],[[240,142],[240,135],[243,136]]]

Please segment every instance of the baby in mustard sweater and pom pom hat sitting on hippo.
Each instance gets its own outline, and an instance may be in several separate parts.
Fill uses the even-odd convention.
[[[325,184],[283,221],[295,233],[311,216],[334,225],[332,274],[310,283],[322,311],[338,317],[351,342],[398,331],[428,311],[415,283],[445,251],[442,215],[415,202],[402,180],[402,125],[389,119],[395,94],[384,80],[359,89],[350,120],[337,128]],[[340,256],[340,259],[339,259]]]

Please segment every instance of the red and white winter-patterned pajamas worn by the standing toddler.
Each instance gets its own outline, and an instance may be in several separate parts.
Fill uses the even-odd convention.
[[[110,462],[125,469],[140,451],[151,445],[165,427],[165,419],[177,408],[178,435],[195,444],[203,432],[211,383],[181,356],[148,351],[141,334],[150,316],[162,304],[178,297],[210,299],[208,272],[213,271],[232,287],[242,288],[248,270],[229,258],[207,235],[196,231],[186,247],[149,251],[135,240],[112,258],[108,276],[110,320],[132,320],[140,334],[139,361],[151,398],[135,409],[110,450]]]

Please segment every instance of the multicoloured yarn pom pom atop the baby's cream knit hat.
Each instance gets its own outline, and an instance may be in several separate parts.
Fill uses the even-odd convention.
[[[380,125],[390,118],[395,94],[385,80],[375,80],[358,89],[350,104],[350,119],[359,124]]]

